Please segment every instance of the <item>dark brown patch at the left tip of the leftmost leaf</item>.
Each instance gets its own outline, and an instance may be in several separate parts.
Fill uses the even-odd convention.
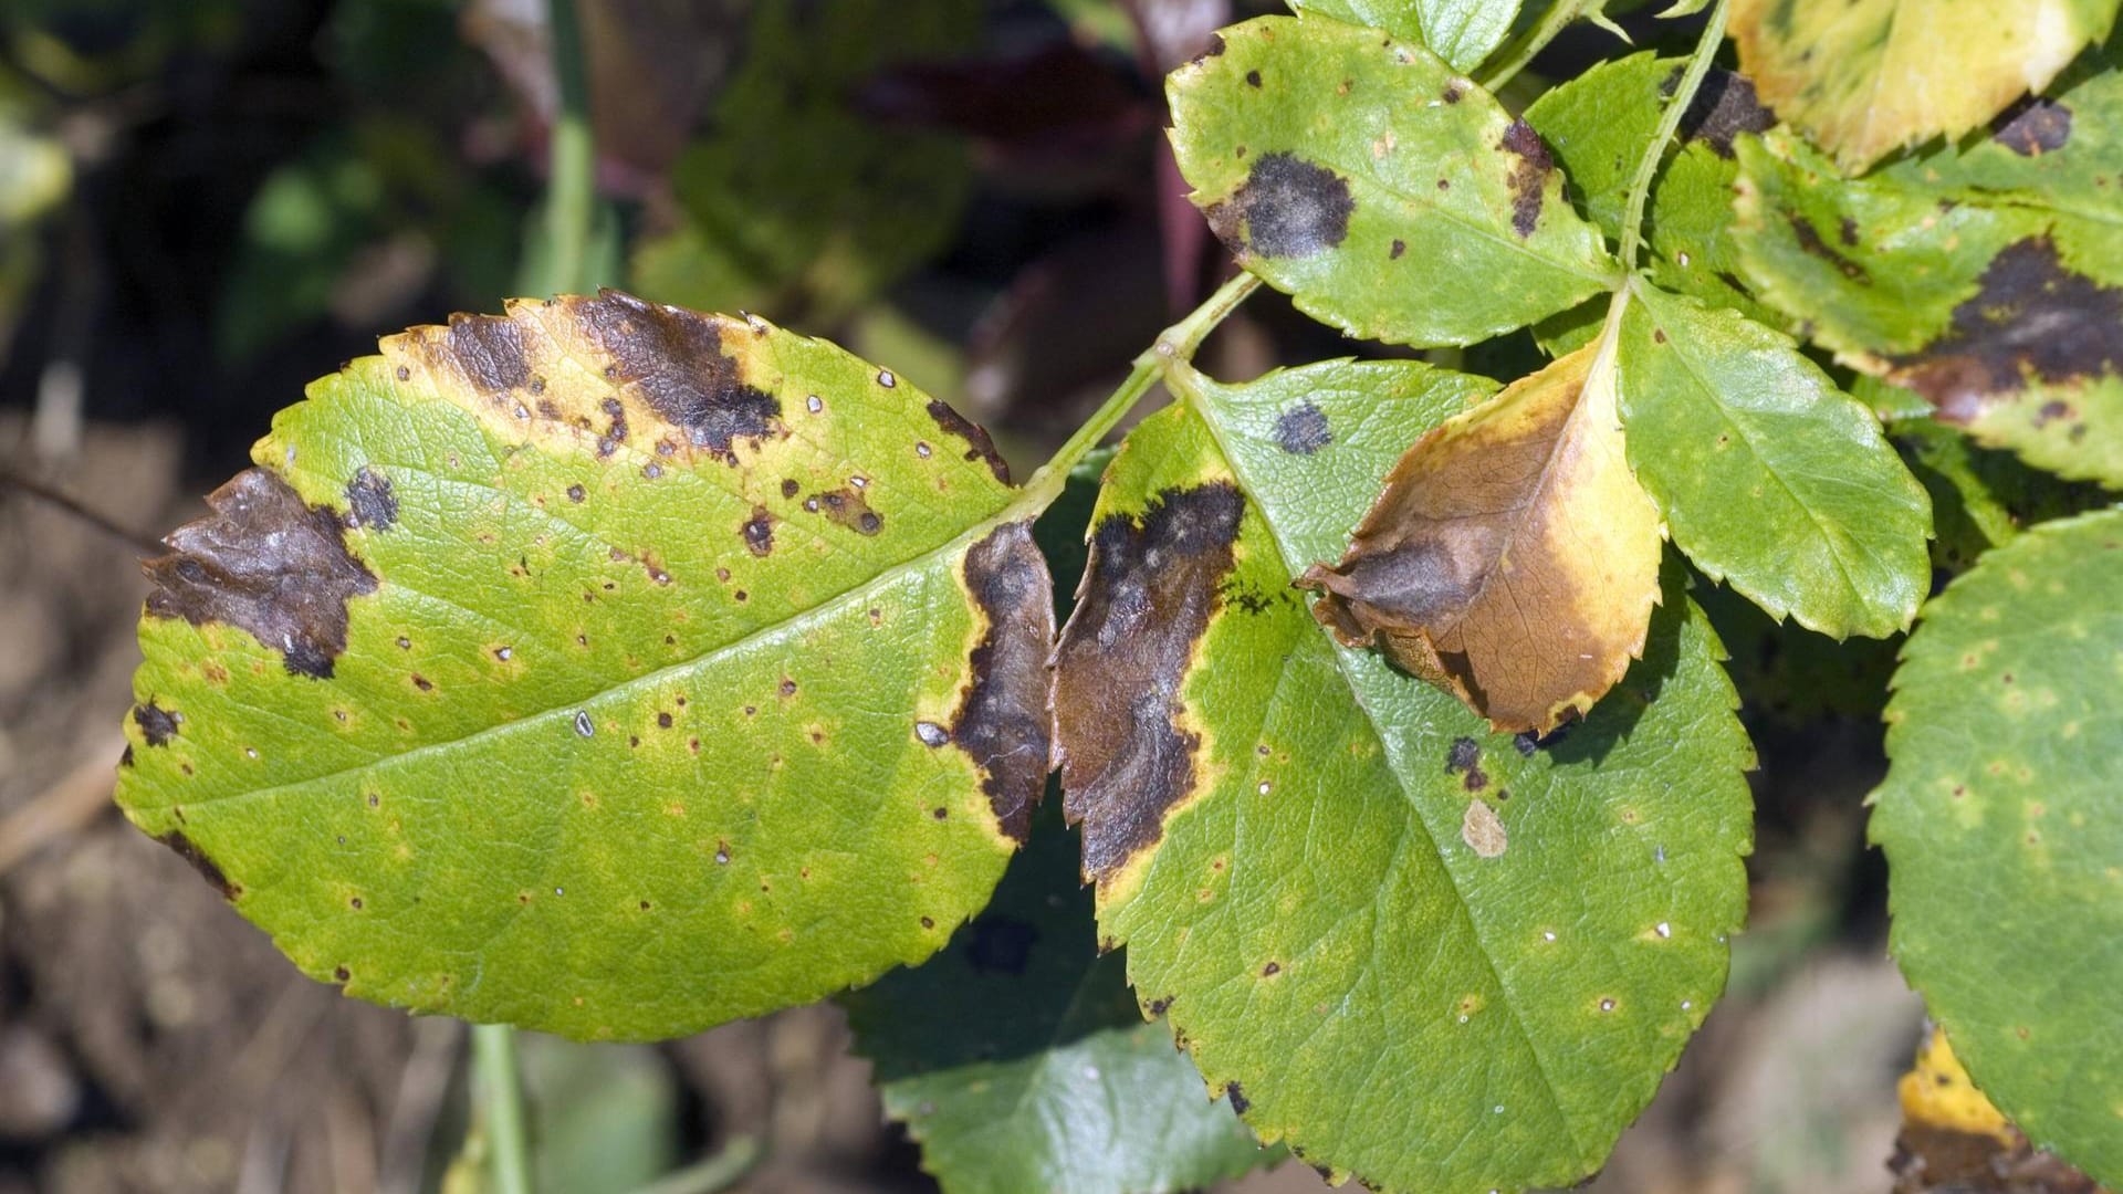
[[[376,576],[346,550],[340,516],[306,506],[265,470],[244,470],[206,499],[212,514],[163,540],[142,563],[146,612],[195,627],[229,625],[280,652],[295,676],[329,680],[346,650],[346,603]]]

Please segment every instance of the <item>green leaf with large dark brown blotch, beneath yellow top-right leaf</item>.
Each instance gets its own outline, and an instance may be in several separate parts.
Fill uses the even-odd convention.
[[[1741,266],[1979,442],[2123,484],[2123,74],[2008,117],[1860,181],[1790,134],[1741,142]]]

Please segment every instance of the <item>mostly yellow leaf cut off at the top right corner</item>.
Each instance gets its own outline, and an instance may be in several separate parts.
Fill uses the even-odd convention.
[[[1960,136],[2108,36],[2117,0],[1734,0],[1739,68],[1847,172]]]

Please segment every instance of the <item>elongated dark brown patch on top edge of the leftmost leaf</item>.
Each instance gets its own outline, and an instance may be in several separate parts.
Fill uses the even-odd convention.
[[[722,351],[726,323],[618,291],[569,300],[567,312],[611,359],[614,380],[696,448],[728,455],[739,438],[762,440],[781,421],[781,399],[743,380]]]

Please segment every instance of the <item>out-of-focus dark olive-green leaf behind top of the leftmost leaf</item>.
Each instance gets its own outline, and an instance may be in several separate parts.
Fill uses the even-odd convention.
[[[686,223],[637,246],[633,285],[707,310],[834,321],[938,253],[972,166],[955,138],[853,102],[879,72],[972,47],[977,0],[758,4],[711,130],[671,174]]]

